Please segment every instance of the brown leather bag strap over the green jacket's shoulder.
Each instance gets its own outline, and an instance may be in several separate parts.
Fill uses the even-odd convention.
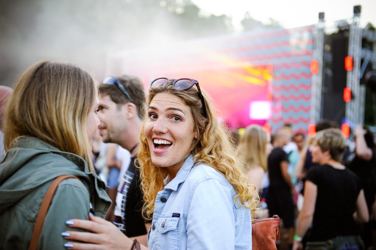
[[[56,188],[58,188],[60,182],[68,178],[76,178],[79,180],[79,178],[73,175],[61,175],[58,178],[56,178],[55,181],[52,182],[46,194],[44,195],[41,208],[39,208],[38,216],[36,217],[33,234],[31,236],[31,241],[29,245],[29,250],[36,250],[36,248],[38,247],[39,235],[42,232],[44,217],[46,216],[47,211],[50,207],[53,194],[55,194]]]

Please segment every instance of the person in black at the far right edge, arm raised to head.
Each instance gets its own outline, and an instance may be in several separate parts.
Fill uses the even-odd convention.
[[[371,131],[364,129],[361,124],[354,130],[355,134],[355,157],[349,163],[352,170],[360,179],[364,189],[368,211],[371,213],[372,204],[376,194],[376,148]],[[364,224],[362,239],[365,247],[372,245],[371,221]]]

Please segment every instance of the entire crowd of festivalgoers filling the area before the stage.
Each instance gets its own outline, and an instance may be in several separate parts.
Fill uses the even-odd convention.
[[[0,95],[0,249],[29,248],[61,175],[78,179],[59,184],[38,249],[252,249],[252,221],[272,215],[279,250],[376,244],[376,148],[360,124],[353,145],[330,120],[313,138],[252,124],[235,139],[197,80],[146,93],[135,76],[98,84],[48,61]]]

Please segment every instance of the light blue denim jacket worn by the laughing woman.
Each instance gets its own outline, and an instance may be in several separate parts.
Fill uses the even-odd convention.
[[[235,205],[236,190],[217,170],[193,167],[189,156],[159,191],[148,235],[157,249],[252,249],[250,210]]]

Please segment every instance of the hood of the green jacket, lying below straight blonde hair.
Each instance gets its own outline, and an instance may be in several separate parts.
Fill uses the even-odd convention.
[[[60,175],[105,187],[83,158],[34,137],[21,137],[0,164],[0,214],[35,188]]]

